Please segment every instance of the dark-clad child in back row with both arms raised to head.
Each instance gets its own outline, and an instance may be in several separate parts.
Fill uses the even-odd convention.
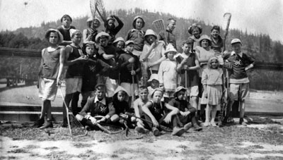
[[[116,20],[118,23],[117,26],[115,26]],[[124,23],[117,16],[111,15],[110,17],[107,18],[107,20],[104,22],[104,27],[105,27],[105,32],[107,32],[110,35],[108,44],[112,44],[114,42],[115,36],[122,29],[123,26]]]

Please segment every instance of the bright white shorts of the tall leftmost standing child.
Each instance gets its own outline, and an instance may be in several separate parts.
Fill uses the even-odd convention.
[[[39,97],[54,101],[57,94],[57,80],[40,78],[39,80]]]

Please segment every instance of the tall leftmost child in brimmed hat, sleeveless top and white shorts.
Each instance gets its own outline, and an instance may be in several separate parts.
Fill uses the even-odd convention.
[[[62,42],[63,35],[54,29],[49,29],[45,33],[49,47],[42,49],[42,59],[39,73],[39,97],[42,98],[42,108],[40,119],[35,122],[33,127],[44,129],[52,128],[51,101],[54,101],[57,94],[57,85],[60,85],[60,79],[64,66],[64,49],[58,47]],[[47,123],[45,122],[47,114]]]

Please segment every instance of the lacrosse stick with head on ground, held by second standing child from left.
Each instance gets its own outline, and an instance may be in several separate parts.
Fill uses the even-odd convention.
[[[88,135],[88,131],[86,130],[86,132],[85,133],[80,133],[80,131],[81,130],[84,130],[84,128],[83,128],[83,125],[81,125],[81,123],[76,119],[76,117],[71,113],[71,114],[69,114],[69,109],[68,109],[68,106],[67,106],[67,104],[66,104],[66,101],[65,101],[65,99],[64,99],[64,95],[63,95],[63,92],[62,92],[62,90],[61,90],[61,85],[59,85],[59,92],[60,92],[60,94],[61,94],[61,97],[62,97],[62,99],[63,99],[63,102],[64,102],[64,106],[65,106],[65,109],[66,109],[66,112],[67,112],[67,122],[68,122],[68,128],[69,128],[69,133],[70,133],[70,135],[76,135],[76,137],[83,137],[83,136],[86,136],[86,135]],[[69,118],[69,116],[71,116],[71,118],[72,118],[72,122],[74,123],[74,129],[73,129],[73,133],[72,133],[72,130],[71,130],[71,123],[70,123],[70,118]],[[75,127],[77,127],[77,128],[79,128],[78,130],[76,130],[76,128]]]

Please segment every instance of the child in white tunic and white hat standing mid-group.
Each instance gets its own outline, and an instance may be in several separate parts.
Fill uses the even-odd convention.
[[[161,62],[158,71],[158,80],[161,87],[164,87],[164,101],[168,101],[173,98],[175,89],[179,85],[178,73],[177,73],[177,62],[174,59],[177,51],[173,45],[168,44],[165,51],[166,60]]]

